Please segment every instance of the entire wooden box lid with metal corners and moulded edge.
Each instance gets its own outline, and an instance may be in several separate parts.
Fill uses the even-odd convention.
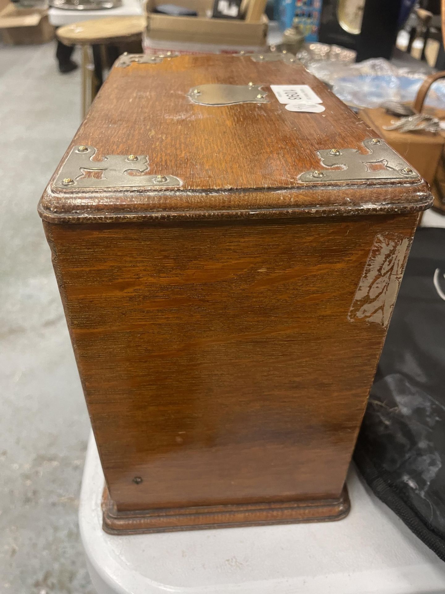
[[[271,85],[309,86],[325,110],[290,111]],[[425,182],[375,135],[289,55],[124,55],[39,211],[107,222],[430,206]]]

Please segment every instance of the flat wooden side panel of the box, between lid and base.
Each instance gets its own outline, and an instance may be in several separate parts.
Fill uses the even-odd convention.
[[[117,510],[338,498],[416,222],[45,223]]]

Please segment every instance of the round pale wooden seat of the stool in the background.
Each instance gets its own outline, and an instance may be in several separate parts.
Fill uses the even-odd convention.
[[[141,38],[145,17],[104,17],[59,27],[58,39],[65,45],[125,42]]]

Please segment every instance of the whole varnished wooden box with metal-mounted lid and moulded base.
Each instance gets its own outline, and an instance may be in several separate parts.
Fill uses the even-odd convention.
[[[271,84],[307,85],[325,111],[287,110]],[[430,204],[289,55],[119,59],[39,206],[107,532],[347,514]]]

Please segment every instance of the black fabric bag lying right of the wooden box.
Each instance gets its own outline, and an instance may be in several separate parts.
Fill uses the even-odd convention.
[[[445,229],[415,235],[354,460],[445,561]]]

